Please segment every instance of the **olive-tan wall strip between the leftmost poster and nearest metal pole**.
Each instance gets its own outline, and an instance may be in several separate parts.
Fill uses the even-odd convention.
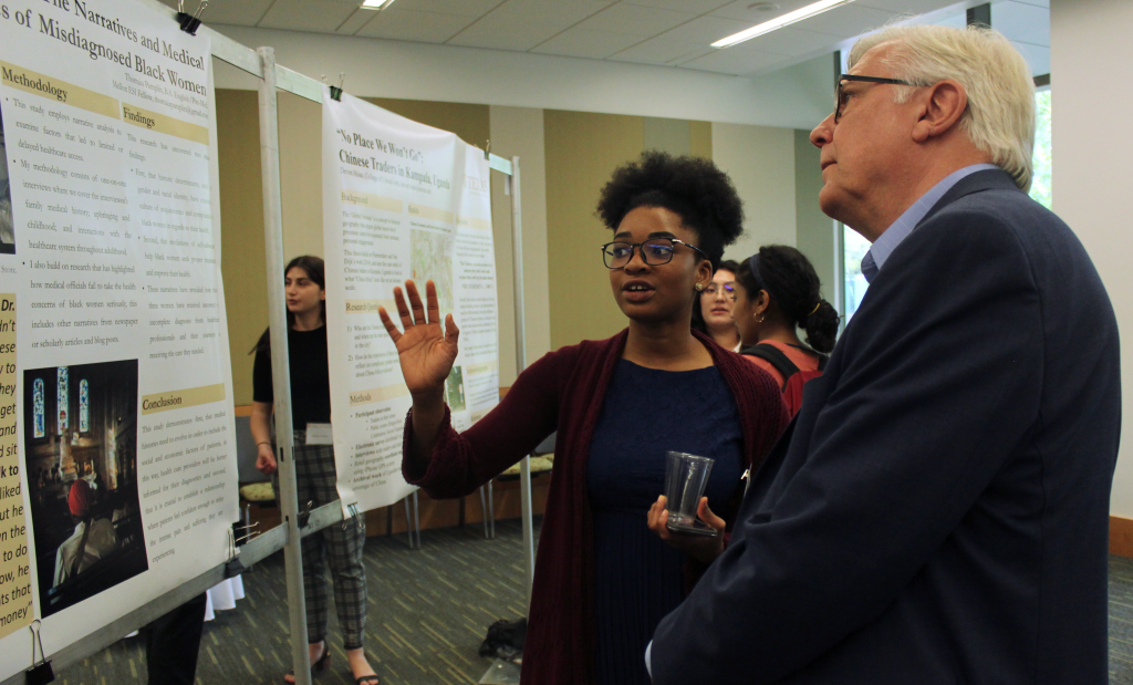
[[[252,403],[248,349],[267,328],[267,268],[259,174],[259,105],[254,91],[216,91],[221,273],[232,353],[232,396]]]

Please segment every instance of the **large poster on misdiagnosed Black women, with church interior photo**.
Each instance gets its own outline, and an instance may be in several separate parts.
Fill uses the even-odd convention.
[[[0,71],[7,677],[32,618],[50,654],[228,559],[238,502],[208,39],[0,0]]]

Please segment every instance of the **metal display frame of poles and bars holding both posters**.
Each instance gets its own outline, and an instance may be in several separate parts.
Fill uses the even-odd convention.
[[[177,11],[157,0],[137,0],[163,15],[170,22],[177,19]],[[335,500],[310,513],[306,525],[299,525],[299,502],[295,474],[295,441],[291,430],[291,379],[287,346],[287,304],[283,291],[283,210],[280,191],[279,162],[279,111],[276,91],[287,91],[322,104],[322,83],[303,76],[275,64],[272,48],[255,51],[216,33],[207,26],[199,26],[198,34],[212,40],[214,58],[232,65],[259,78],[259,160],[263,176],[264,196],[264,245],[267,260],[267,304],[270,308],[272,348],[272,387],[274,391],[276,464],[280,481],[280,509],[282,525],[254,538],[242,547],[233,543],[232,559],[185,583],[150,603],[130,611],[112,621],[103,629],[49,654],[48,660],[56,673],[86,659],[110,646],[123,635],[139,629],[156,618],[181,606],[189,599],[205,592],[224,578],[241,573],[246,567],[265,559],[280,549],[283,550],[287,568],[287,595],[289,627],[291,632],[291,656],[296,683],[310,685],[310,659],[307,651],[307,611],[303,585],[303,538],[317,533],[329,525],[342,522],[342,506]],[[519,158],[505,160],[485,153],[488,166],[505,178],[511,194],[512,254],[514,263],[516,290],[516,358],[517,371],[527,367],[527,348],[523,337],[523,250],[522,223],[520,218]],[[530,460],[525,457],[520,471],[520,488],[523,516],[523,549],[527,560],[527,586],[530,593],[535,573],[535,547],[531,523],[531,474]],[[23,685],[24,673],[18,673],[0,685]]]

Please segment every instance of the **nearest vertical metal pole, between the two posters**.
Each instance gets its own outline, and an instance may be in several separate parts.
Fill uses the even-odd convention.
[[[264,79],[259,83],[259,163],[264,187],[264,246],[267,256],[267,311],[272,345],[272,388],[275,403],[275,448],[280,482],[280,511],[287,528],[283,565],[291,625],[295,680],[310,685],[307,652],[307,611],[303,589],[303,551],[299,501],[295,475],[295,435],[291,426],[291,372],[287,347],[287,302],[283,294],[283,204],[280,197],[280,136],[275,94],[275,51],[258,48]]]

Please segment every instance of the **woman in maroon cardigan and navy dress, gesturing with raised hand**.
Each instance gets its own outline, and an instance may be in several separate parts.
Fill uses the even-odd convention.
[[[641,652],[654,627],[721,546],[719,535],[688,534],[666,544],[649,531],[665,451],[714,458],[700,507],[727,511],[741,474],[787,422],[767,373],[691,330],[700,293],[742,230],[727,175],[709,160],[647,152],[614,171],[598,214],[613,240],[600,255],[595,245],[594,265],[602,260],[628,328],[545,355],[462,433],[444,405],[459,330],[452,314],[442,329],[433,282],[424,302],[412,281],[394,289],[403,330],[380,310],[412,396],[407,481],[431,497],[469,494],[557,430],[523,648],[528,685],[648,685]]]

